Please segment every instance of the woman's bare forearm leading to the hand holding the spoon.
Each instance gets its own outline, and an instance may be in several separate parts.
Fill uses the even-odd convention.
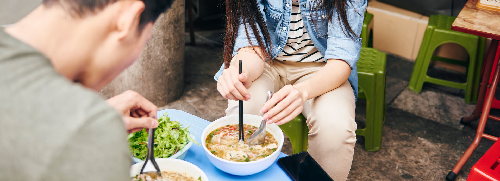
[[[302,98],[308,100],[338,88],[349,78],[350,70],[345,61],[328,59],[314,76],[293,87],[302,92]]]

